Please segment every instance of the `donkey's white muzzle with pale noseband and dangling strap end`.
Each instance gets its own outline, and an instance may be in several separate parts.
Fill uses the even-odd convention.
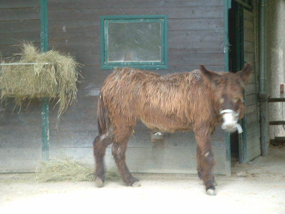
[[[235,132],[238,130],[238,133],[242,133],[242,128],[238,123],[239,112],[235,112],[232,109],[225,109],[220,112],[222,115],[223,123],[222,129],[227,132]]]

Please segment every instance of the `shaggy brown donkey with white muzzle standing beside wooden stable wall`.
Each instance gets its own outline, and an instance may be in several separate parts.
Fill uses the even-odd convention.
[[[112,155],[122,180],[140,186],[126,165],[127,141],[138,120],[161,132],[193,130],[197,141],[197,171],[206,193],[216,195],[212,175],[211,136],[222,122],[228,132],[242,132],[243,89],[251,65],[237,73],[214,72],[200,66],[187,73],[160,76],[134,68],[115,68],[101,88],[97,106],[99,135],[93,142],[98,187],[105,181],[103,158],[112,143]]]

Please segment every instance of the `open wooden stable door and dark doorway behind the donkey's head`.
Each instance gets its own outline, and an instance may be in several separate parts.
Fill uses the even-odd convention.
[[[241,120],[243,133],[231,134],[232,157],[246,163],[260,155],[260,128],[256,78],[256,35],[254,8],[232,1],[229,10],[230,70],[237,72],[245,63],[252,63],[253,71],[244,91],[246,113]]]

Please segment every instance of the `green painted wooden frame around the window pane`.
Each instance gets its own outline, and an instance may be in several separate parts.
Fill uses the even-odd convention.
[[[111,23],[156,23],[160,26],[159,60],[122,61],[109,60],[109,34],[108,24]],[[111,25],[110,25],[111,26]],[[139,26],[139,24],[137,25]],[[113,69],[114,67],[135,67],[139,69],[167,69],[168,68],[168,24],[167,15],[143,15],[143,16],[101,16],[101,69]]]

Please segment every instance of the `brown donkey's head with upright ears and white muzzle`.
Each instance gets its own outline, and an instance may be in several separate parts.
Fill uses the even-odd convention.
[[[200,66],[200,70],[213,88],[213,99],[222,115],[222,129],[228,132],[242,132],[238,119],[244,115],[243,89],[252,70],[251,64],[237,73],[213,72]]]

